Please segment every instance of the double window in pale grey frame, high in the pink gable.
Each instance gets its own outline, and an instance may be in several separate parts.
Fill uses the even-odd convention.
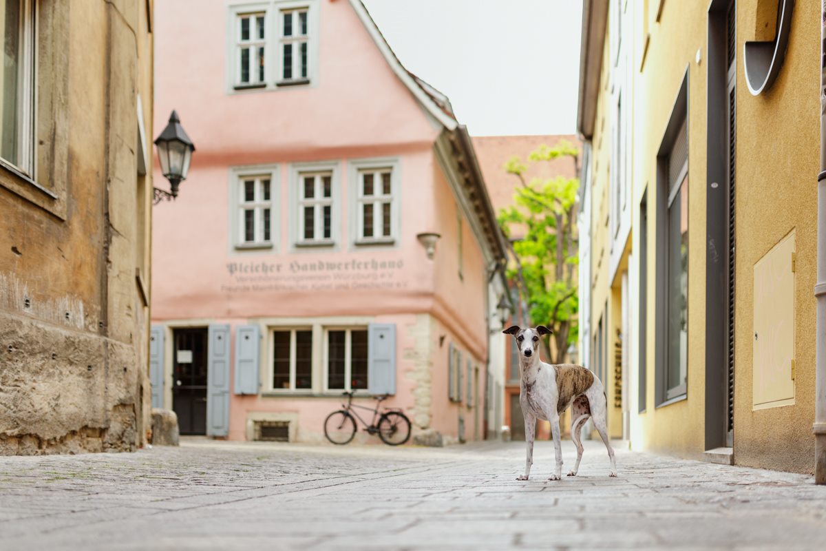
[[[230,89],[311,83],[318,55],[317,0],[268,0],[230,7]]]

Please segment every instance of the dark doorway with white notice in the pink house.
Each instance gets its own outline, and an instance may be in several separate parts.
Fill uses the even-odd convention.
[[[182,435],[207,434],[206,327],[173,332],[172,409]]]

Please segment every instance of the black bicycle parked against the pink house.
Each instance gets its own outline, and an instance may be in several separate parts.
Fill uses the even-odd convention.
[[[398,446],[404,444],[411,437],[411,421],[399,409],[385,409],[379,413],[379,404],[386,400],[386,396],[376,397],[376,407],[371,409],[353,403],[353,392],[342,392],[348,397],[347,404],[342,404],[342,410],[333,411],[324,421],[324,435],[336,445],[349,444],[356,435],[356,419],[360,420],[371,435],[378,435],[387,445]],[[368,424],[354,408],[373,411],[373,420]],[[355,417],[354,417],[355,416]],[[378,422],[376,422],[378,420]]]

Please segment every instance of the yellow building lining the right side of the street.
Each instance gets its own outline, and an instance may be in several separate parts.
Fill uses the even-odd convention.
[[[581,349],[634,449],[814,471],[819,20],[584,4]]]

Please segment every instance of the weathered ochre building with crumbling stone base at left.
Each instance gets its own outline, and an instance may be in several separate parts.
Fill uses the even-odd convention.
[[[0,2],[0,454],[146,442],[152,7]]]

